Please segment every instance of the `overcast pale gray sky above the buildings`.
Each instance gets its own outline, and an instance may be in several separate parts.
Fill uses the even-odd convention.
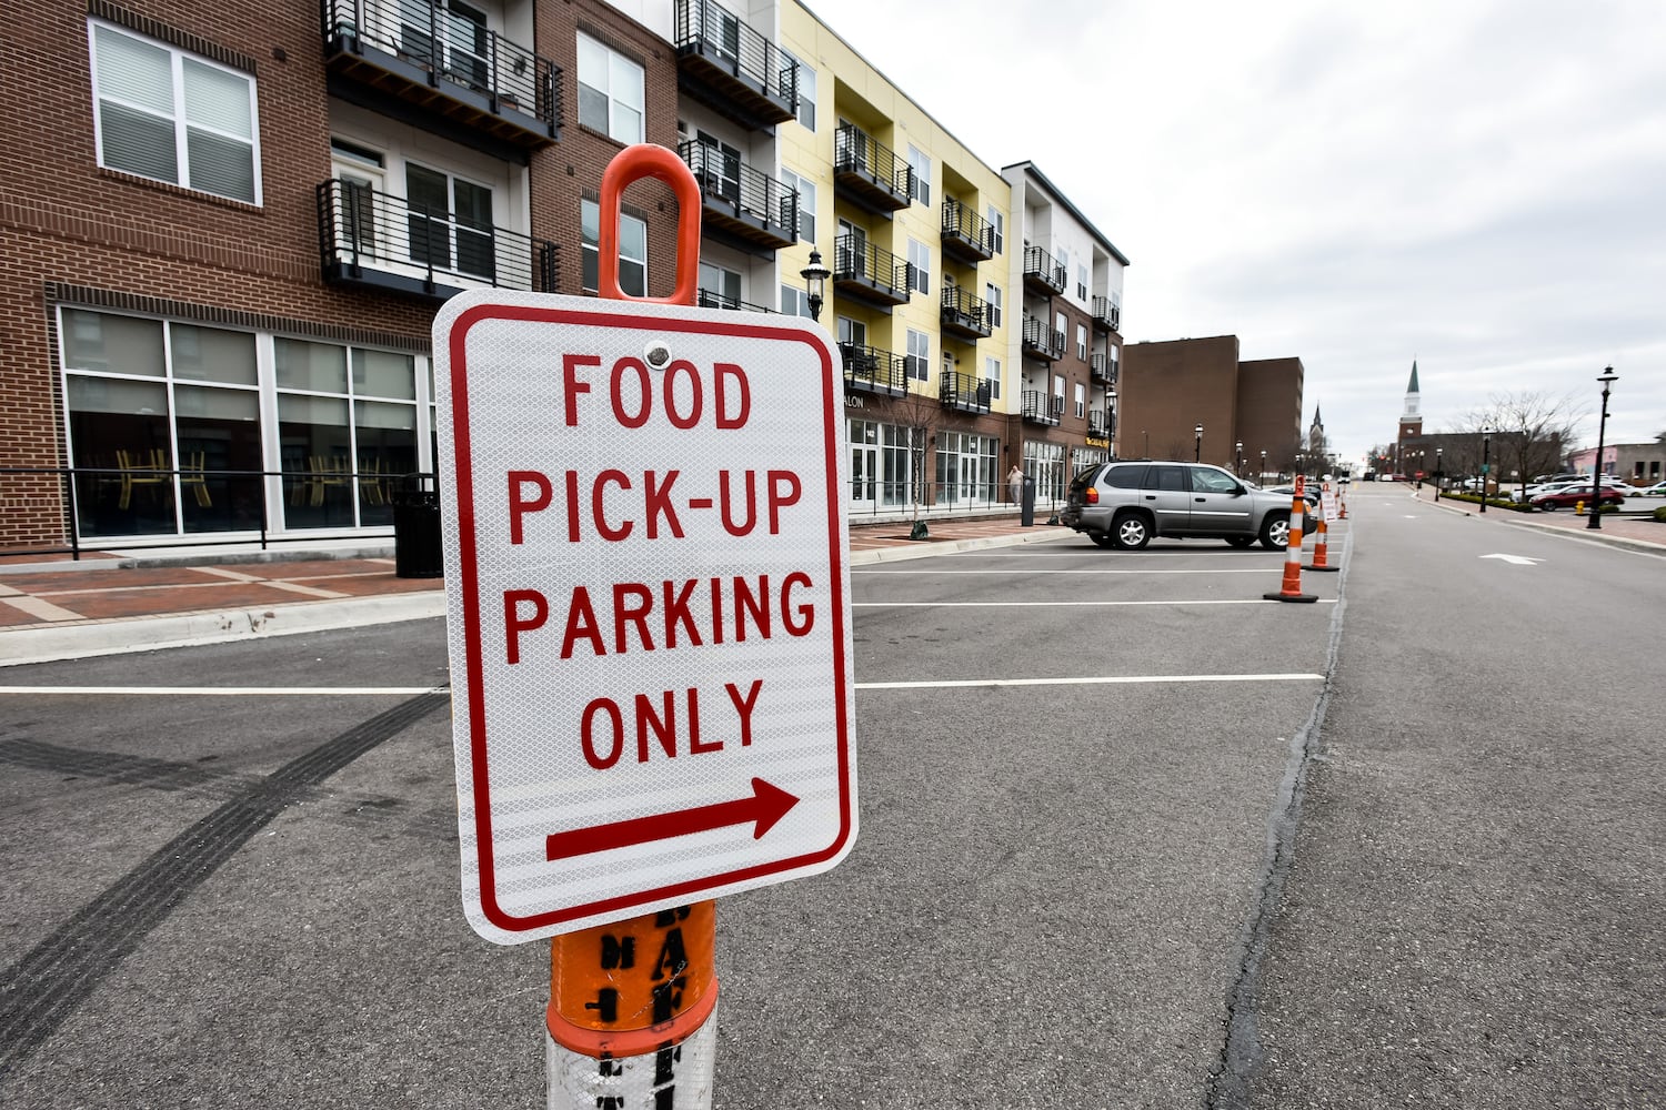
[[[1666,431],[1661,0],[810,0],[985,163],[1133,266],[1123,336],[1299,356],[1358,458],[1503,393]],[[975,95],[966,73],[998,73]]]

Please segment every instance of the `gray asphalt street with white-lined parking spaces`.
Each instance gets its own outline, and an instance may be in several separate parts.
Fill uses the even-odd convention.
[[[713,1105],[1666,1103],[1666,561],[1329,541],[855,567],[860,835],[720,900]],[[438,621],[0,671],[0,1103],[541,1105],[446,689]]]

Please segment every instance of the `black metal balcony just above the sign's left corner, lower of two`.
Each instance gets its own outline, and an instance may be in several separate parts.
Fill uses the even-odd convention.
[[[325,281],[440,300],[481,286],[556,291],[555,243],[342,180],[317,195]]]

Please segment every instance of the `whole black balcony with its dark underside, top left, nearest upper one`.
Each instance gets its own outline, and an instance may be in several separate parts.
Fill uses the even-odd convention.
[[[495,156],[561,133],[561,70],[428,0],[323,0],[330,92]]]

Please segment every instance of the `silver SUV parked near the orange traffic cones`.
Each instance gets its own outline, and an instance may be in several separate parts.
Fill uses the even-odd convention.
[[[1283,551],[1291,501],[1208,463],[1140,459],[1098,463],[1076,474],[1058,516],[1101,548],[1121,551],[1140,551],[1153,536],[1225,539],[1233,548],[1259,539]]]

